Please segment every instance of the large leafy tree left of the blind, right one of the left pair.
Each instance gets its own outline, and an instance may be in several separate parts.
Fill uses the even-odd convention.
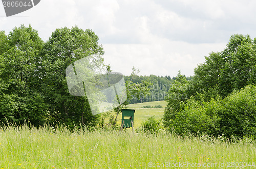
[[[91,113],[86,96],[69,93],[66,68],[75,61],[95,54],[92,64],[103,66],[103,48],[98,44],[98,36],[92,30],[82,30],[77,26],[56,29],[45,43],[41,52],[41,91],[49,105],[51,122],[73,124],[96,124],[98,116]]]

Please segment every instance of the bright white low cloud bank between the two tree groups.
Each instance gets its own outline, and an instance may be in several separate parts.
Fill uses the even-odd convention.
[[[190,44],[163,40],[152,44],[103,44],[105,63],[114,71],[130,75],[132,66],[141,75],[176,76],[178,70],[186,76],[194,75],[194,68],[204,62],[210,52],[224,50],[225,44]]]

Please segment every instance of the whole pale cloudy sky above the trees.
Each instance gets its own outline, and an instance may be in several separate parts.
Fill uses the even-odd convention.
[[[130,75],[194,75],[211,52],[225,49],[233,34],[256,37],[256,1],[244,0],[41,0],[34,8],[6,17],[0,30],[31,24],[47,41],[58,28],[78,26],[99,36],[105,64]]]

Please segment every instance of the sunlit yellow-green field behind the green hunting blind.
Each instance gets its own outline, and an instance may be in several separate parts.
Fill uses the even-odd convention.
[[[146,103],[137,103],[130,104],[128,109],[135,109],[134,113],[134,127],[138,128],[141,126],[141,123],[145,121],[148,117],[155,116],[156,119],[161,119],[164,114],[164,108],[166,107],[165,101],[156,101],[156,102],[146,102]],[[161,105],[163,108],[141,108],[142,106],[156,106]],[[114,115],[114,113],[111,113]],[[117,125],[121,125],[122,115],[119,114],[117,118]],[[108,119],[105,120],[108,123]]]

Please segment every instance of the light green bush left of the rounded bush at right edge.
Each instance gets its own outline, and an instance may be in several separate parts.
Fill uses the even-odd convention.
[[[183,110],[177,111],[174,118],[164,123],[165,127],[181,135],[204,133],[217,136],[220,120],[217,116],[218,105],[219,101],[213,99],[210,102],[200,102],[191,98]]]

